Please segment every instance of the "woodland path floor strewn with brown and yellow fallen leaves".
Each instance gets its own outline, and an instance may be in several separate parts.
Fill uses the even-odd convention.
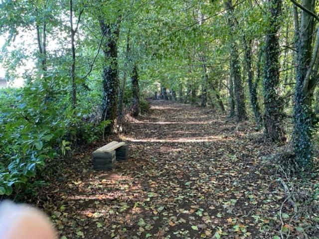
[[[38,205],[60,237],[279,239],[281,228],[300,235],[305,222],[293,219],[284,190],[260,170],[270,153],[256,141],[261,132],[208,108],[153,101],[152,109],[120,136],[130,144],[127,162],[94,171],[101,142],[75,153],[43,188]]]

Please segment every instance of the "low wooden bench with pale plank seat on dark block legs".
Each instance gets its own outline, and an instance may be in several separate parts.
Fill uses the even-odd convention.
[[[112,141],[93,152],[93,168],[111,171],[116,161],[129,158],[129,145],[125,142]]]

